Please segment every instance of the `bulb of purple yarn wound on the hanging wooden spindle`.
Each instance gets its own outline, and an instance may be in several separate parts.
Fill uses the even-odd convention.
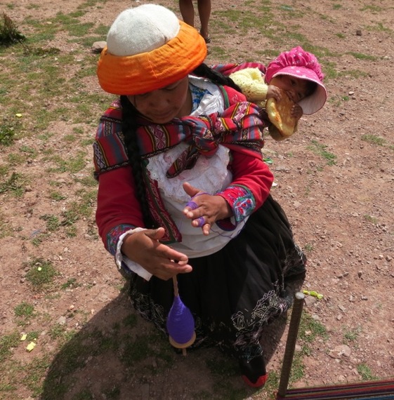
[[[173,299],[166,326],[174,342],[183,345],[192,339],[195,332],[195,319],[179,296],[175,296]]]

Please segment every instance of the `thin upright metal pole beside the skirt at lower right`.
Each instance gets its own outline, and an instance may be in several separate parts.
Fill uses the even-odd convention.
[[[304,298],[305,295],[301,292],[297,292],[294,295],[293,311],[291,312],[289,333],[287,334],[286,348],[284,349],[282,363],[282,372],[280,374],[279,389],[277,391],[277,394],[280,397],[286,396],[287,386],[289,385],[291,364],[293,364],[294,349],[296,348],[296,340],[301,321]]]

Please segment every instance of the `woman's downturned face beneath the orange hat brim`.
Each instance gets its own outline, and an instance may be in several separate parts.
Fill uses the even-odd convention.
[[[192,109],[188,76],[157,91],[129,95],[127,98],[138,112],[157,124],[189,115]]]

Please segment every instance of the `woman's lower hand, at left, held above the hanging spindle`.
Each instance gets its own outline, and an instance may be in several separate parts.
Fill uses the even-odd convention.
[[[188,256],[160,243],[163,236],[162,227],[129,234],[123,241],[122,253],[164,281],[191,272]]]

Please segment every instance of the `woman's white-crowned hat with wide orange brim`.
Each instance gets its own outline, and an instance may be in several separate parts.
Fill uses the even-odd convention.
[[[204,38],[194,27],[163,6],[145,4],[114,20],[97,76],[108,93],[138,95],[183,79],[205,57]]]

